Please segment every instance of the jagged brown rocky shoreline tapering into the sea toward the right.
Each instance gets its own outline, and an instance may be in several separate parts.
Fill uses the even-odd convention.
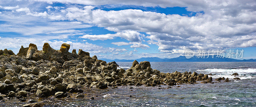
[[[25,102],[23,97],[84,97],[83,88],[117,88],[117,86],[156,86],[176,84],[213,83],[212,77],[196,72],[161,73],[150,68],[148,61],[133,61],[130,69],[118,68],[116,62],[98,60],[97,56],[79,49],[69,53],[69,44],[62,44],[60,50],[53,49],[44,43],[43,50],[37,50],[35,44],[29,44],[15,55],[12,50],[0,50],[0,100],[17,98]],[[218,80],[217,80],[218,79]],[[216,81],[228,78],[217,78]],[[94,97],[90,97],[94,99]],[[40,107],[43,103],[23,105],[24,107]]]

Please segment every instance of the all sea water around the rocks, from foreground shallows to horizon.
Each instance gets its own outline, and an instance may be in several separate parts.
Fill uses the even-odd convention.
[[[132,62],[117,62],[120,68],[128,69]],[[211,84],[182,84],[161,87],[121,86],[117,89],[84,89],[85,98],[49,97],[39,99],[45,107],[256,107],[255,62],[150,62],[151,68],[161,72],[197,72],[217,77],[230,78],[230,82]],[[234,80],[238,73],[241,80]],[[133,87],[133,89],[130,89]],[[159,89],[160,88],[160,89]],[[90,100],[90,97],[94,100]],[[26,99],[35,99],[27,97]],[[37,98],[36,98],[37,99]],[[20,107],[26,102],[17,99],[0,102],[0,106]]]

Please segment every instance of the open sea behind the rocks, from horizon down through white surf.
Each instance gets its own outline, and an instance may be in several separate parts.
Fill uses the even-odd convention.
[[[132,62],[117,62],[119,68],[131,68]],[[161,72],[197,72],[203,74],[216,74],[213,78],[234,78],[233,73],[238,73],[240,79],[256,77],[255,62],[150,62],[151,68]]]

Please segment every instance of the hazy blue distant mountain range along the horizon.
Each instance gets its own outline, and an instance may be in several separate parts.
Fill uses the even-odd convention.
[[[207,56],[206,56],[207,57]],[[150,62],[256,62],[256,59],[249,59],[249,60],[237,60],[237,59],[232,59],[232,58],[219,58],[216,55],[209,56],[208,58],[197,58],[196,56],[193,56],[189,59],[187,59],[185,56],[179,56],[177,58],[157,58],[157,57],[147,57],[147,58],[140,58],[140,59],[135,59],[137,61],[150,61]],[[133,62],[134,60],[110,60],[110,59],[99,59],[107,62]]]

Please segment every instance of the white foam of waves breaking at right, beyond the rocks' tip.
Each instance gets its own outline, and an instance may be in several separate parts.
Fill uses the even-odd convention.
[[[239,77],[241,80],[243,79],[251,79],[255,78],[255,76],[251,75],[252,73],[256,73],[256,69],[205,69],[205,70],[197,70],[199,73],[204,73],[204,74],[216,74],[216,75],[209,75],[212,78],[219,78],[219,77],[225,77],[225,78],[230,78],[233,79],[235,76],[231,76],[233,73],[238,73],[239,75],[236,77]]]

